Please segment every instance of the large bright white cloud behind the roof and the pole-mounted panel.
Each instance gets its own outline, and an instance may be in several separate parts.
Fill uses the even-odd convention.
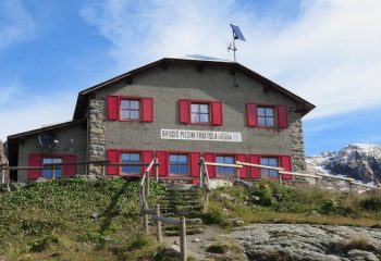
[[[238,61],[317,104],[311,119],[381,104],[380,12],[379,0],[306,0],[285,22],[234,0],[105,0],[82,15],[123,71],[185,53],[231,59],[234,21],[247,38]]]

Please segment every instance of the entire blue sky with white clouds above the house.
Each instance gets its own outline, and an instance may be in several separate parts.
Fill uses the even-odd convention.
[[[0,139],[70,121],[78,91],[163,57],[226,51],[317,108],[307,156],[381,144],[379,0],[2,0]]]

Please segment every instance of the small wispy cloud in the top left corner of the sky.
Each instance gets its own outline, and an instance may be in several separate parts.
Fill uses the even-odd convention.
[[[0,22],[0,50],[34,35],[34,20],[17,0],[1,1]]]

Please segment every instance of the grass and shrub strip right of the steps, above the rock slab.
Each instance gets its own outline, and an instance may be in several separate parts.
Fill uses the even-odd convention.
[[[226,192],[234,200],[219,200]],[[351,196],[321,188],[294,188],[261,182],[251,189],[213,190],[204,220],[229,226],[229,219],[249,223],[300,223],[381,227],[381,194]]]

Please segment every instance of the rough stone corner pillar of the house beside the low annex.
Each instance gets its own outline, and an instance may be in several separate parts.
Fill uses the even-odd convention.
[[[106,159],[105,100],[91,99],[88,113],[88,157],[90,161]],[[101,175],[102,167],[89,165],[88,174]]]

